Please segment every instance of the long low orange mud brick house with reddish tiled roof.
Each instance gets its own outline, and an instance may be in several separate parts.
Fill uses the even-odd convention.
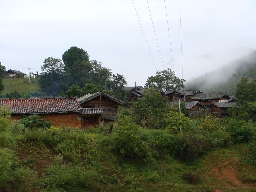
[[[37,114],[52,125],[81,128],[81,107],[76,97],[41,99],[0,99],[0,107],[9,105],[12,118]]]

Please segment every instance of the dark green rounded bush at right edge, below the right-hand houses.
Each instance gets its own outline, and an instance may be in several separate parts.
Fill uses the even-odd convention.
[[[230,118],[226,130],[236,142],[248,143],[255,138],[256,126],[251,122]]]

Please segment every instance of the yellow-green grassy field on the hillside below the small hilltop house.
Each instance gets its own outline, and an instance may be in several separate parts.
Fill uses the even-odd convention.
[[[28,83],[28,79],[23,78],[4,78],[3,79],[4,90],[2,94],[6,94],[8,92],[17,91],[24,96],[27,96],[29,93],[39,92],[38,84],[33,79],[30,84]]]

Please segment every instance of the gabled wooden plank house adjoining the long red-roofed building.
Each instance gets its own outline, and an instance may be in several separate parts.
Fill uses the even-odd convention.
[[[78,102],[82,107],[87,109],[101,108],[101,118],[104,119],[105,122],[111,122],[115,120],[115,115],[118,109],[118,105],[125,104],[124,101],[116,99],[114,97],[109,96],[103,92],[97,92],[93,94],[86,94],[80,98],[78,98]],[[83,114],[82,114],[83,115]],[[86,114],[88,115],[88,114]],[[82,121],[83,126],[86,127],[86,122],[95,122],[95,117],[83,117]]]

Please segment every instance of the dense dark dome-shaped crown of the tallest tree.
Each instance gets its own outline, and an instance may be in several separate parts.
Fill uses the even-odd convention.
[[[89,55],[87,51],[78,47],[70,47],[62,55],[62,60],[65,65],[65,69],[70,68],[77,60],[89,61]]]

